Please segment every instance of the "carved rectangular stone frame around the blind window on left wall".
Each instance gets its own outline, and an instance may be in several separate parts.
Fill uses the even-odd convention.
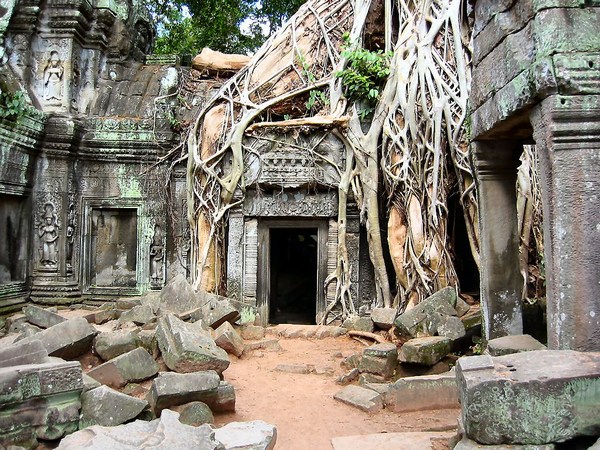
[[[82,254],[80,258],[80,273],[82,274],[83,294],[104,295],[141,295],[148,285],[148,264],[150,238],[145,233],[142,210],[142,199],[96,199],[84,198],[83,202],[83,233]],[[92,211],[94,209],[133,209],[137,218],[137,249],[136,249],[136,286],[108,287],[91,286],[93,255],[92,247]]]

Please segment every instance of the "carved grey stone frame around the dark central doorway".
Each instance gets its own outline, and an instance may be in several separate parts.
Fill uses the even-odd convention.
[[[325,278],[327,273],[328,220],[313,218],[259,219],[258,220],[258,280],[257,309],[263,326],[269,323],[269,302],[271,289],[271,229],[316,228],[317,229],[317,292],[316,317],[319,323],[325,314]]]

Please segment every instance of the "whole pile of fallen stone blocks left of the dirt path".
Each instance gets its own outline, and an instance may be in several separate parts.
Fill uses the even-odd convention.
[[[273,448],[276,429],[264,422],[211,425],[213,413],[235,410],[223,372],[228,353],[248,351],[242,336],[255,339],[250,350],[278,350],[243,312],[251,321],[234,327],[229,299],[195,293],[183,277],[86,317],[26,306],[0,339],[0,446],[70,434],[58,448]],[[78,358],[89,352],[104,362],[84,374]]]

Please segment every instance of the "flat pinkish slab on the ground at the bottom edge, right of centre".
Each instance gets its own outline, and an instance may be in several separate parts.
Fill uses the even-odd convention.
[[[436,450],[435,442],[447,443],[452,432],[378,433],[359,436],[335,437],[333,450]]]

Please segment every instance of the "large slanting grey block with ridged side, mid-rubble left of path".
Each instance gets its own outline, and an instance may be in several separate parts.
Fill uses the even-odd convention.
[[[227,352],[199,326],[186,323],[169,314],[158,320],[156,339],[167,367],[187,373],[216,370],[222,373],[229,367]]]

